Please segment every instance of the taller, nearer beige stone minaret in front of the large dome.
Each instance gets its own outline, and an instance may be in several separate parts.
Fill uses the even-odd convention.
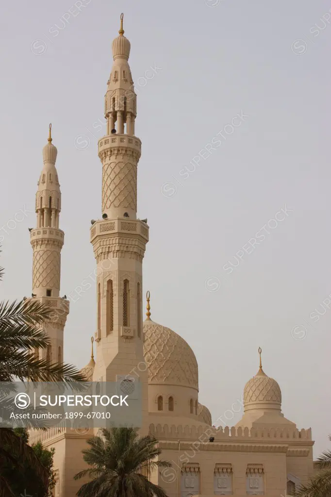
[[[128,64],[130,42],[112,43],[113,67],[105,94],[107,134],[98,142],[102,163],[102,220],[92,221],[90,240],[97,262],[96,364],[93,380],[140,382],[147,418],[147,366],[143,355],[142,262],[147,224],[137,219],[136,94]]]

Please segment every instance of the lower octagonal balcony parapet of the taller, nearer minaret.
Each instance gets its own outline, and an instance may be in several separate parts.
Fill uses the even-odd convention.
[[[109,235],[134,236],[142,238],[142,241],[147,243],[149,240],[149,226],[140,219],[117,218],[117,219],[102,219],[95,221],[90,228],[90,241],[96,237]]]

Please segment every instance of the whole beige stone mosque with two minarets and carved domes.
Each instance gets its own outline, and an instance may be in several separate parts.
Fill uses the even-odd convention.
[[[244,390],[244,414],[236,426],[212,426],[211,414],[199,403],[198,364],[193,350],[174,331],[151,319],[150,295],[143,321],[143,257],[149,240],[147,220],[137,218],[137,166],[141,141],[136,136],[134,83],[128,64],[130,42],[112,42],[113,67],[107,82],[106,135],[98,141],[102,164],[102,211],[92,220],[90,242],[97,265],[97,317],[92,356],[83,368],[93,381],[140,383],[142,434],[154,435],[162,459],[171,468],[148,477],[169,497],[263,495],[284,497],[313,475],[311,429],[299,430],[281,412],[281,390],[260,360]],[[57,149],[51,129],[43,149],[35,210],[30,230],[33,249],[32,299],[54,311],[44,325],[51,345],[39,357],[63,361],[64,327],[69,301],[60,297],[61,191],[55,166]],[[259,352],[261,352],[259,350]],[[252,374],[255,373],[252,360]],[[243,381],[245,379],[243,378]],[[226,407],[224,406],[224,409]],[[85,468],[82,450],[93,429],[50,428],[35,432],[54,447],[54,497],[74,497],[84,483],[74,475]]]

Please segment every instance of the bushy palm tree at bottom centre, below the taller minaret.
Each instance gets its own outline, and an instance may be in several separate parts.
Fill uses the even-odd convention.
[[[145,475],[157,467],[169,467],[157,461],[161,454],[158,441],[149,435],[138,437],[134,428],[102,429],[101,436],[87,440],[84,461],[91,466],[75,475],[75,480],[89,476],[79,497],[166,497],[165,491],[151,483]]]

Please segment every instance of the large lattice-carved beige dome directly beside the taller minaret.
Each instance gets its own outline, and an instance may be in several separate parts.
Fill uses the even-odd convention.
[[[144,322],[144,356],[150,384],[199,389],[198,364],[191,347],[174,331]]]

